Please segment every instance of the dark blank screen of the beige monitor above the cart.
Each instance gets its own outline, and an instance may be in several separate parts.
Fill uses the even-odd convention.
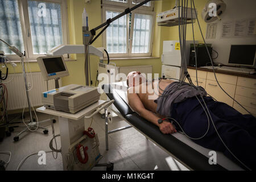
[[[48,74],[66,71],[62,57],[51,57],[43,59]]]

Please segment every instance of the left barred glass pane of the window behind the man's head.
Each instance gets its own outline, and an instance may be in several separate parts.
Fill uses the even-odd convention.
[[[106,19],[117,16],[120,12],[106,11]],[[109,53],[126,53],[127,32],[126,15],[115,20],[106,29],[106,49]]]

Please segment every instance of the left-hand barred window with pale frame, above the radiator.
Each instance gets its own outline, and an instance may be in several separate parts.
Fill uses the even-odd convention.
[[[68,43],[66,7],[66,0],[0,0],[0,38],[26,51],[27,60],[35,60]],[[0,49],[18,58],[1,42]]]

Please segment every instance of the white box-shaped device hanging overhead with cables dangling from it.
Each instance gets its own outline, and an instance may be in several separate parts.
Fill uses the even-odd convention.
[[[179,16],[180,11],[180,16]],[[183,7],[183,11],[185,11],[185,7]],[[180,17],[180,18],[179,18]],[[187,24],[192,23],[192,20],[196,19],[195,9],[188,8],[187,10]],[[173,27],[178,26],[179,21],[181,23],[181,7],[176,7],[175,9],[164,11],[159,13],[156,16],[156,22],[158,22],[158,26],[166,26],[166,27]]]

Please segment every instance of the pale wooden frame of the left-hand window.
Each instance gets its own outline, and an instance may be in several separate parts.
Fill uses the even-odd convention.
[[[20,26],[22,29],[22,38],[23,38],[23,46],[26,55],[24,56],[25,60],[34,61],[37,57],[45,56],[45,54],[34,54],[33,46],[32,46],[32,37],[31,37],[31,27],[30,27],[30,19],[28,14],[28,0],[17,0],[18,1],[18,9],[19,9],[19,18],[20,18]],[[40,2],[48,2],[48,3],[59,3],[61,6],[61,28],[62,28],[62,36],[63,36],[63,44],[69,43],[69,31],[68,31],[68,11],[67,11],[67,0],[32,0],[32,1],[40,1]],[[26,18],[25,18],[26,17]],[[30,36],[28,36],[30,35]],[[15,45],[14,45],[15,46]],[[20,58],[17,55],[6,55],[9,59],[14,61],[19,61]],[[64,56],[64,57],[67,57]]]

